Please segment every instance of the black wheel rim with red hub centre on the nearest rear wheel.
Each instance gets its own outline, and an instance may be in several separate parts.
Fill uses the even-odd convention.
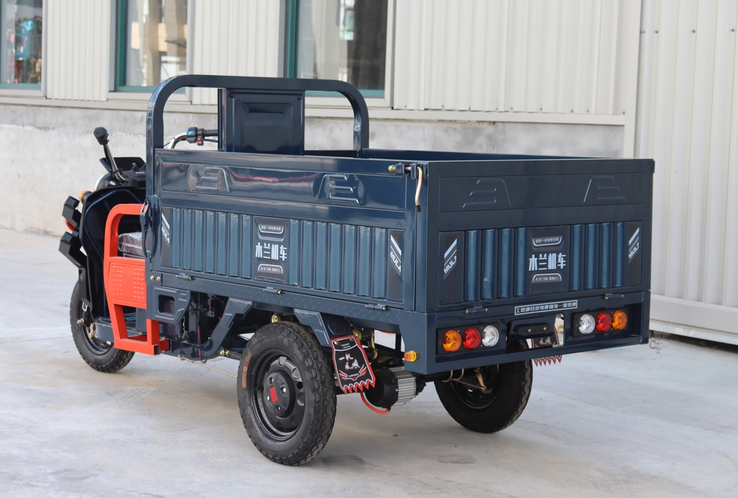
[[[284,351],[265,351],[261,356],[249,387],[251,406],[263,432],[275,440],[288,440],[305,415],[303,376]]]

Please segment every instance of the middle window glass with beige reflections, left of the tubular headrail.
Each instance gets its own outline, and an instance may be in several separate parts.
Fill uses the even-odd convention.
[[[187,0],[120,0],[118,87],[156,86],[187,71]]]

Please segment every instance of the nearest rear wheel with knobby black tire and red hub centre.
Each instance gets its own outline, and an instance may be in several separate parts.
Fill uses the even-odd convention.
[[[292,322],[265,325],[246,345],[238,372],[241,418],[261,454],[300,465],[320,453],[336,420],[336,392],[315,336]]]

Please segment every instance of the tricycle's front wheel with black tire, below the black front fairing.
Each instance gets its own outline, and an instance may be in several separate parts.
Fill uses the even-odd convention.
[[[77,323],[83,319],[84,324]],[[89,325],[92,323],[92,314],[83,309],[80,300],[80,283],[77,282],[75,290],[72,291],[72,302],[69,303],[69,325],[72,326],[72,338],[80,356],[98,372],[114,373],[125,367],[134,357],[132,351],[116,349],[109,342],[89,336]]]

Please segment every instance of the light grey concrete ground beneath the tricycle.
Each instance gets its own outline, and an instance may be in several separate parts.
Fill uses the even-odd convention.
[[[323,453],[284,467],[246,436],[234,379],[168,356],[89,368],[57,245],[0,230],[2,497],[738,497],[737,353],[659,339],[566,356],[494,435],[432,386],[389,415],[339,396]]]

